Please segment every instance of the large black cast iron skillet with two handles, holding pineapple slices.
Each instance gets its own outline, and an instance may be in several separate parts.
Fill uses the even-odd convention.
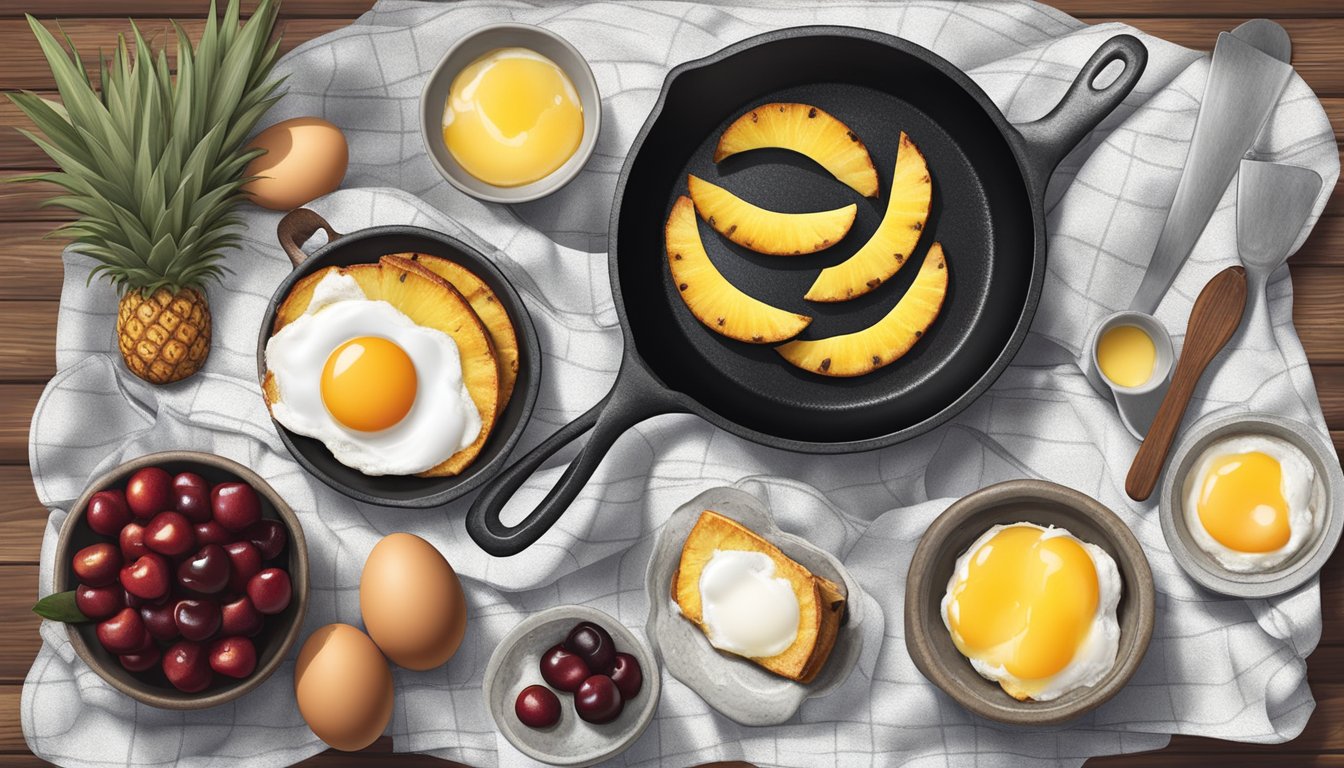
[[[949,62],[867,30],[770,32],[672,70],[616,188],[610,274],[625,332],[617,382],[602,402],[485,486],[466,518],[472,538],[495,555],[521,551],[569,507],[612,443],[660,413],[695,413],[747,440],[810,453],[882,448],[948,421],[999,378],[1031,325],[1046,269],[1050,174],[1129,94],[1146,61],[1136,38],[1111,38],[1050,114],[1017,126]],[[1114,62],[1122,71],[1097,87]],[[825,171],[784,151],[749,152],[716,165],[714,147],[728,122],[773,101],[812,104],[848,124],[872,152],[883,194],[857,199]],[[856,331],[886,315],[918,264],[853,301],[812,304],[802,295],[820,268],[851,256],[876,229],[902,130],[925,152],[933,175],[933,211],[913,261],[938,239],[952,276],[942,315],[910,354],[866,377],[825,378],[785,363],[770,346],[724,339],[696,321],[672,285],[663,246],[664,221],[685,194],[688,172],[773,210],[859,202],[853,231],[813,256],[758,256],[707,227],[702,237],[734,284],[812,315],[802,338]],[[590,429],[540,506],[523,522],[504,525],[500,512],[523,482]]]

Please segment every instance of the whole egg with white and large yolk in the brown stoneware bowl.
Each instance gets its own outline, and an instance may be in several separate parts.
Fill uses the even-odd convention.
[[[1064,529],[995,526],[957,558],[942,621],[970,666],[1009,695],[1050,701],[1116,666],[1116,561]]]

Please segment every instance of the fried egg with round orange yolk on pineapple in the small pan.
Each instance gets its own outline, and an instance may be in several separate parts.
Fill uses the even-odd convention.
[[[371,301],[335,270],[266,342],[271,416],[364,475],[414,475],[470,445],[481,414],[452,336]]]

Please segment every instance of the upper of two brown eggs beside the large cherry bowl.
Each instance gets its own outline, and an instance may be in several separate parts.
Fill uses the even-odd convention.
[[[378,647],[409,670],[449,660],[466,632],[462,582],[431,543],[411,534],[391,534],[368,553],[359,609]]]

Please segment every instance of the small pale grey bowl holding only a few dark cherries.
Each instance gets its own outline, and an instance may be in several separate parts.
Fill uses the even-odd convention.
[[[542,679],[542,654],[564,640],[579,621],[593,621],[612,633],[616,650],[633,655],[644,673],[644,687],[612,722],[585,722],[574,712],[574,694],[555,691],[560,698],[560,722],[546,730],[523,725],[513,713],[517,694]],[[554,689],[552,689],[554,690]],[[657,660],[648,647],[612,616],[587,605],[559,605],[519,621],[500,640],[485,664],[482,695],[495,718],[495,728],[519,752],[551,765],[593,765],[616,757],[634,744],[653,722],[659,707],[660,682]]]

